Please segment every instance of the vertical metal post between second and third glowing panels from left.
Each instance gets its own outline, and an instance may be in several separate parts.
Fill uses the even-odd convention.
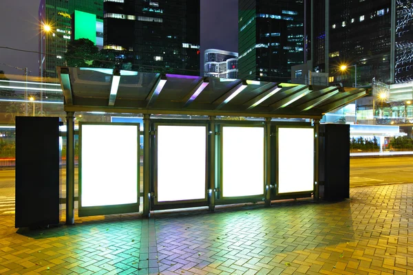
[[[208,210],[215,211],[215,116],[209,117],[209,205]]]

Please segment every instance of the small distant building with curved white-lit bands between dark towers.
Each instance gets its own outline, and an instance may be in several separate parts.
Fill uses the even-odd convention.
[[[238,78],[238,53],[207,49],[204,52],[204,76]]]

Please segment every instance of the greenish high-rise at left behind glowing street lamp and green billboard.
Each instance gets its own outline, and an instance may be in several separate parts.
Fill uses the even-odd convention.
[[[72,39],[75,10],[94,14],[96,20],[103,20],[103,0],[40,1],[39,76],[56,78],[56,66],[65,65],[63,56],[67,43]],[[45,29],[45,25],[50,30]]]

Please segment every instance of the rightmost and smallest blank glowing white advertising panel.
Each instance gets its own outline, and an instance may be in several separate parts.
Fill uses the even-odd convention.
[[[278,128],[278,193],[314,189],[314,129]]]

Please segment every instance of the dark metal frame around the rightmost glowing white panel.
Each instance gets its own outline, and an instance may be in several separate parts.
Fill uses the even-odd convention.
[[[312,190],[304,190],[304,191],[298,191],[298,192],[279,192],[279,129],[280,128],[290,128],[290,129],[313,129],[313,189]],[[314,126],[304,126],[304,125],[275,125],[275,131],[276,131],[276,139],[275,139],[275,165],[271,164],[273,168],[275,168],[275,183],[276,183],[276,196],[277,197],[290,197],[290,196],[295,196],[297,197],[301,195],[308,195],[310,193],[314,192],[314,183],[315,183],[315,127]],[[297,173],[299,173],[299,170],[297,170]]]

